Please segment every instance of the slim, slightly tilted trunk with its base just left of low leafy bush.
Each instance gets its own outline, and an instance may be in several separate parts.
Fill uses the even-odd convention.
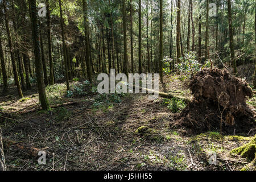
[[[70,90],[69,78],[68,78],[68,59],[67,59],[67,51],[66,51],[66,46],[65,46],[64,20],[63,20],[63,16],[62,16],[61,0],[59,0],[59,7],[60,7],[60,27],[61,27],[63,55],[64,55],[64,64],[65,64],[66,85],[67,85],[67,90]]]

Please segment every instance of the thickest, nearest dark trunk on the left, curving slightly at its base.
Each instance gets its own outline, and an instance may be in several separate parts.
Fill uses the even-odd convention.
[[[32,25],[32,38],[34,43],[35,65],[36,65],[36,80],[38,82],[39,100],[41,102],[43,110],[51,109],[49,107],[46,90],[43,80],[42,62],[40,59],[40,43],[39,43],[39,30],[38,30],[38,11],[36,10],[36,0],[29,0],[30,12],[31,12],[31,25]]]

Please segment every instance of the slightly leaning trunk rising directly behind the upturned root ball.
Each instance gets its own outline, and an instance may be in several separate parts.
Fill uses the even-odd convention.
[[[232,10],[231,10],[231,1],[228,0],[228,16],[229,16],[229,42],[230,42],[230,55],[233,65],[233,73],[237,74],[237,63],[234,57],[234,43],[233,43],[233,27],[232,27]]]

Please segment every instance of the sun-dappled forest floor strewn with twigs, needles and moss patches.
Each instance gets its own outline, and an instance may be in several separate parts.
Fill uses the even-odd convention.
[[[191,97],[179,76],[164,79],[161,88],[183,97]],[[73,82],[72,93],[65,85],[47,88],[51,105],[77,102],[51,111],[19,114],[39,108],[36,89],[18,99],[15,88],[0,97],[3,138],[23,142],[46,150],[46,165],[15,146],[5,148],[9,170],[240,170],[250,161],[230,154],[233,148],[249,142],[253,136],[221,135],[211,131],[199,135],[182,135],[170,128],[171,100],[148,100],[146,94],[100,95],[97,87]],[[82,89],[87,88],[87,89]],[[247,102],[255,111],[256,97]],[[180,107],[179,107],[180,106]],[[212,152],[217,165],[210,165]]]

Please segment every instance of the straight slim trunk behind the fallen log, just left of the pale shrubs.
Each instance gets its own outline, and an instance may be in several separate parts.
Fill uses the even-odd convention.
[[[163,0],[160,0],[160,81],[163,82]]]

